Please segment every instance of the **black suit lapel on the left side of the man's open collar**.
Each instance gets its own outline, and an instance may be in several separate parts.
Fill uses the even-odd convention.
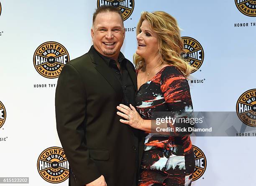
[[[100,74],[107,80],[113,89],[123,95],[123,90],[120,82],[115,77],[115,74],[111,71],[110,67],[104,62],[104,60],[94,51],[91,47],[89,50],[90,57],[92,59],[92,63],[95,64],[95,69],[100,72]]]

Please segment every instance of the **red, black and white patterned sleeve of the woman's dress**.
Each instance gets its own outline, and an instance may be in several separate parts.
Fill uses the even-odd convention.
[[[161,73],[161,92],[164,95],[170,116],[179,118],[179,122],[172,124],[172,127],[182,127],[186,129],[193,127],[193,124],[190,124],[190,118],[193,117],[193,106],[189,84],[179,69],[174,66],[164,68]],[[178,121],[178,119],[176,121]],[[187,131],[175,131],[174,135],[186,136],[191,133],[192,132],[187,129]]]

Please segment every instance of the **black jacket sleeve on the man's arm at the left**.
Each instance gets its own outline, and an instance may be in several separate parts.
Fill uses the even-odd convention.
[[[85,144],[86,92],[79,72],[66,64],[59,76],[55,94],[56,126],[76,185],[85,185],[101,176],[90,159]]]

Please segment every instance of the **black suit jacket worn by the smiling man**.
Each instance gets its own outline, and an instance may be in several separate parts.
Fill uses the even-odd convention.
[[[137,90],[131,62],[126,67]],[[144,138],[119,122],[116,106],[123,90],[108,65],[94,51],[68,62],[56,87],[55,108],[59,139],[70,165],[69,185],[82,186],[100,175],[108,186],[132,186]],[[134,150],[139,139],[139,157]]]

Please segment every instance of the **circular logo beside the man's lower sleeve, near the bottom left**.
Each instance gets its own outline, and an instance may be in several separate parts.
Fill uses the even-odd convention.
[[[60,147],[45,149],[37,160],[37,170],[40,176],[49,183],[57,184],[69,177],[69,162]]]

